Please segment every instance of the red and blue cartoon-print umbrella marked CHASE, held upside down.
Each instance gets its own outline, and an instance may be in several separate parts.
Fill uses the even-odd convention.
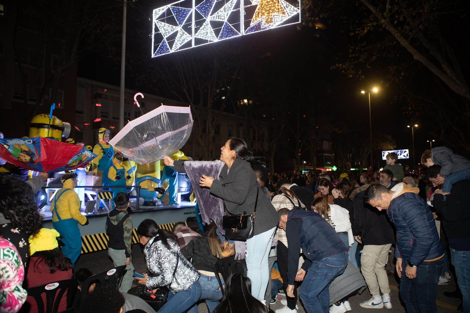
[[[83,146],[44,137],[0,139],[0,157],[36,172],[62,172],[82,167],[97,155]]]

